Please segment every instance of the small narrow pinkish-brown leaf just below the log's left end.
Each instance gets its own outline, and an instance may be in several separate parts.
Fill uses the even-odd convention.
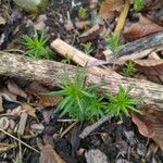
[[[21,96],[25,99],[27,98],[26,92],[22,88],[20,88],[13,80],[8,80],[7,87],[11,93],[16,95],[16,96]]]

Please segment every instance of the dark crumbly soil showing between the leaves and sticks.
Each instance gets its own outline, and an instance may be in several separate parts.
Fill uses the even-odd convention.
[[[26,13],[20,10],[12,0],[2,1],[0,7],[0,15],[5,20],[5,24],[0,24],[0,50],[5,49],[21,49],[25,50],[24,45],[22,43],[22,36],[29,35],[34,36],[34,28],[30,24],[36,24],[36,21],[39,15],[34,15]],[[75,27],[75,22],[77,20],[77,11],[79,7],[90,10],[87,1],[76,0],[75,7],[72,8],[71,0],[51,0],[45,12],[46,27],[48,28],[48,39],[49,45],[55,38],[60,37],[65,40],[67,43],[76,47],[77,49],[84,50],[82,46],[79,36],[89,27],[77,28]],[[91,15],[88,12],[87,21],[91,21]],[[67,15],[71,17],[71,23],[73,28],[70,30],[65,27],[67,23]],[[78,18],[79,20],[79,18]],[[79,20],[80,22],[83,20]],[[84,20],[85,21],[85,20]],[[2,39],[2,35],[4,39]],[[90,54],[97,54],[100,51],[105,49],[104,39],[96,37],[92,40],[92,51]],[[54,52],[55,53],[55,52]],[[54,54],[54,60],[63,60],[59,54]],[[30,84],[25,79],[10,78],[1,76],[0,86],[1,89],[5,87],[7,80],[14,80],[16,85],[23,90]],[[50,88],[53,89],[53,88]],[[55,89],[55,88],[54,88]],[[27,102],[27,99],[16,96],[16,101]],[[35,97],[30,98],[30,102],[35,103]],[[9,101],[3,98],[3,108],[4,113],[9,110],[13,111],[20,105],[15,101]],[[85,163],[85,151],[90,149],[99,149],[108,156],[108,162],[110,163],[161,163],[163,162],[163,152],[159,149],[155,151],[155,145],[152,140],[141,136],[135,126],[131,123],[131,120],[124,117],[122,121],[120,118],[112,118],[111,122],[104,123],[102,126],[93,130],[87,138],[80,139],[79,134],[82,130],[95,123],[86,122],[78,123],[75,127],[67,133],[62,138],[59,137],[59,134],[66,129],[71,123],[67,122],[58,122],[59,117],[53,113],[55,106],[48,106],[46,110],[39,108],[36,109],[36,117],[28,117],[28,124],[26,126],[26,133],[32,136],[29,125],[33,123],[43,124],[45,129],[39,134],[37,133],[34,137],[25,138],[22,137],[22,140],[26,143],[34,146],[38,149],[37,139],[43,139],[45,136],[49,136],[53,139],[53,148],[57,153],[67,163]],[[46,112],[46,113],[45,113]],[[46,114],[46,115],[45,115]],[[0,115],[1,116],[1,115]],[[49,117],[49,122],[46,121],[46,117]],[[14,122],[17,123],[18,120],[14,118]],[[16,143],[9,136],[0,133],[0,143]],[[39,149],[38,149],[39,150]],[[16,153],[20,151],[18,143],[17,148],[10,149],[0,154],[0,162],[13,162],[16,158]],[[39,154],[33,150],[27,149],[22,146],[23,151],[23,163],[37,163],[39,162]]]

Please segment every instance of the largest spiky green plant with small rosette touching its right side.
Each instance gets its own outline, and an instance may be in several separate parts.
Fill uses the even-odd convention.
[[[49,93],[64,97],[55,110],[60,117],[68,114],[72,118],[87,121],[103,115],[105,103],[97,96],[97,90],[101,85],[85,86],[85,78],[84,70],[77,70],[74,79],[71,79],[70,75],[64,72],[59,85],[62,90]]]

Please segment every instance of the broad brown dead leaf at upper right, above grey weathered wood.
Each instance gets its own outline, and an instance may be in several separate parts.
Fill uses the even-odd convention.
[[[163,27],[138,14],[139,22],[125,27],[123,34],[131,39],[138,39],[150,34],[162,32]]]

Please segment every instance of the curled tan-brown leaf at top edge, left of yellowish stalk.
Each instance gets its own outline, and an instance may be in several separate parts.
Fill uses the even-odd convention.
[[[99,13],[103,18],[111,18],[116,16],[117,12],[121,12],[123,5],[123,0],[104,0]]]

